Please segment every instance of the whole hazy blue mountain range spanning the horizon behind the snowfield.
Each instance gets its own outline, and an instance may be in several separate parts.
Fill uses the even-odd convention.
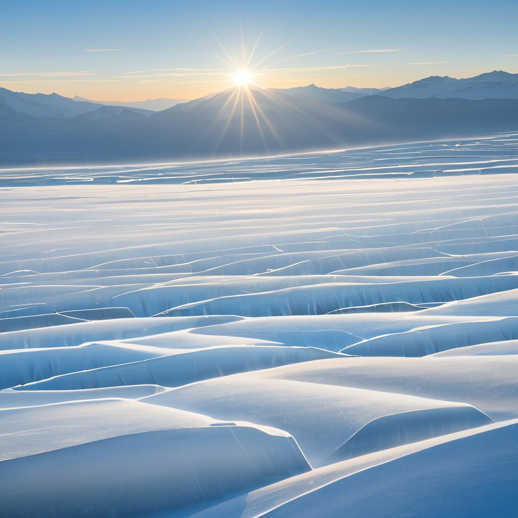
[[[232,88],[162,111],[0,89],[0,166],[196,160],[517,129],[518,74],[397,88]]]

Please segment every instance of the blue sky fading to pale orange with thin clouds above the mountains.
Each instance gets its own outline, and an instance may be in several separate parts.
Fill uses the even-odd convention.
[[[518,73],[516,20],[510,0],[0,0],[0,87],[129,102],[224,90],[243,68],[263,88]]]

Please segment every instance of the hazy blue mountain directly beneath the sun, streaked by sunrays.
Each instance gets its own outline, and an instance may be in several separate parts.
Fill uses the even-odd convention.
[[[157,142],[186,155],[256,155],[339,145],[346,127],[373,131],[369,121],[307,96],[251,87],[227,90],[155,113],[147,121]]]

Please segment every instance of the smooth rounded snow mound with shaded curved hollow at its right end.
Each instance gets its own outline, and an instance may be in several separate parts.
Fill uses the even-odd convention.
[[[364,450],[376,451],[413,442],[413,427],[418,428],[416,436],[423,438],[490,422],[487,415],[462,403],[248,374],[193,383],[141,401],[212,413],[229,421],[244,416],[247,421],[282,426],[297,438],[312,465],[328,463],[332,455],[347,458],[361,454],[338,452],[342,443],[360,436]],[[368,424],[387,416],[392,421],[385,421],[381,429],[377,427],[373,432],[375,425],[370,431],[366,429]]]

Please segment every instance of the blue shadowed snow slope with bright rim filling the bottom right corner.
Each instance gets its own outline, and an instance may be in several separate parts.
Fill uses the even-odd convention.
[[[513,516],[517,427],[505,421],[330,464],[193,516]]]

